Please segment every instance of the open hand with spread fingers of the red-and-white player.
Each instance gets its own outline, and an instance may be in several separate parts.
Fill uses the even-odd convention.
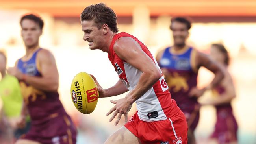
[[[115,116],[117,116],[117,120],[115,121],[115,125],[118,124],[119,120],[122,117],[122,114],[124,114],[125,123],[127,123],[128,120],[128,112],[130,111],[132,104],[129,103],[126,98],[121,98],[119,100],[111,100],[111,103],[116,104],[110,111],[107,113],[107,116],[111,113],[113,113],[112,117],[109,119],[109,122],[111,122]]]

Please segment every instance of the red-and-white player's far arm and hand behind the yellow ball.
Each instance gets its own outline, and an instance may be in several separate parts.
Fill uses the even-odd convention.
[[[99,98],[106,98],[111,96],[117,96],[120,94],[123,94],[124,92],[127,92],[128,89],[126,89],[125,85],[122,83],[121,80],[117,81],[117,83],[108,89],[103,89],[100,84],[98,83],[97,79],[93,77],[93,80],[95,81],[96,85],[98,86],[97,90],[99,92]]]

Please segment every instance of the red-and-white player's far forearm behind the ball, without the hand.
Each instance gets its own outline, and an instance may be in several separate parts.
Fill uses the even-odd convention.
[[[128,89],[125,87],[122,81],[119,80],[113,87],[106,89],[105,97],[117,96],[127,91]]]

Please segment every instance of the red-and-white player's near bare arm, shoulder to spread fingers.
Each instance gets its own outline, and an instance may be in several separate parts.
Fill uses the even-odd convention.
[[[118,39],[115,42],[113,49],[122,60],[142,72],[134,90],[128,93],[125,98],[111,101],[116,105],[107,113],[107,115],[114,112],[113,116],[109,120],[111,122],[119,113],[115,122],[115,125],[117,125],[122,114],[124,114],[125,121],[127,122],[127,114],[132,103],[145,94],[145,92],[147,92],[150,87],[152,87],[152,85],[161,78],[161,72],[156,67],[152,59],[148,57],[143,50],[141,50],[141,46],[130,37],[121,37]]]

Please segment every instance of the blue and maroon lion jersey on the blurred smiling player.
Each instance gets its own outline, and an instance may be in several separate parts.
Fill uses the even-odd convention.
[[[194,109],[197,104],[196,98],[188,96],[191,88],[197,86],[197,72],[193,65],[194,54],[195,50],[192,47],[179,54],[172,52],[172,47],[168,47],[159,61],[160,68],[166,68],[169,72],[166,82],[172,98],[181,110]]]

